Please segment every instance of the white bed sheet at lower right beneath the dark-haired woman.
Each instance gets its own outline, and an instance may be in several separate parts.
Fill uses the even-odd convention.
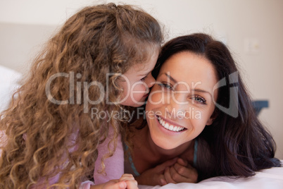
[[[283,161],[281,161],[283,163]],[[170,188],[189,188],[189,189],[232,189],[232,188],[252,188],[252,189],[282,189],[283,188],[283,167],[273,167],[259,171],[255,176],[249,178],[229,178],[218,176],[208,178],[200,183],[178,183],[154,187],[139,185],[139,189],[170,189]]]

